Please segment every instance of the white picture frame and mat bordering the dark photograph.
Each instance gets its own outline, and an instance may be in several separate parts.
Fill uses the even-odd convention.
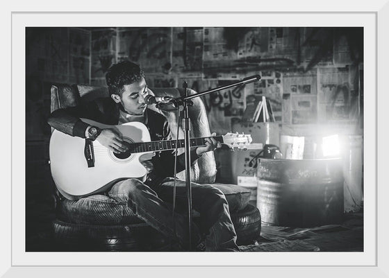
[[[83,6],[76,1],[66,3],[34,3],[31,6],[10,6],[3,8],[3,39],[1,47],[6,54],[3,60],[3,76],[6,76],[6,88],[1,102],[3,132],[3,202],[0,202],[3,228],[1,238],[0,275],[3,277],[106,277],[108,275],[140,275],[146,272],[155,275],[299,275],[302,277],[340,277],[356,276],[388,277],[389,267],[385,264],[386,247],[386,186],[385,155],[388,150],[383,137],[385,121],[388,118],[388,94],[385,93],[385,81],[388,79],[389,49],[386,26],[389,26],[389,2],[342,3],[325,1],[277,1],[276,3],[240,3],[227,6],[226,3],[174,4],[147,1],[147,3],[124,3],[122,6],[106,3],[105,7],[89,3]],[[58,6],[56,6],[58,5]],[[23,8],[21,8],[23,7]],[[120,8],[118,8],[120,7]],[[120,10],[120,11],[118,11]],[[125,12],[124,10],[131,10]],[[97,13],[96,11],[101,11]],[[340,20],[340,15],[345,21]],[[146,19],[144,19],[146,17]],[[256,17],[257,21],[253,21]],[[159,20],[163,19],[163,20]],[[228,20],[229,19],[229,20]],[[26,26],[245,26],[258,22],[258,26],[270,22],[267,26],[285,26],[285,22],[294,26],[362,26],[365,33],[365,86],[370,84],[374,95],[365,96],[365,251],[366,256],[356,254],[334,254],[322,252],[316,254],[288,253],[43,253],[24,252],[24,33]],[[360,20],[360,21],[359,21]],[[227,22],[229,22],[229,25]],[[305,24],[304,24],[305,22]],[[307,23],[309,22],[309,23]],[[341,23],[342,22],[342,23]],[[65,25],[64,25],[65,24]],[[108,25],[107,25],[108,24]],[[376,43],[378,43],[376,45]],[[372,54],[374,53],[374,54]],[[372,59],[372,60],[369,60]],[[375,60],[375,62],[374,62]],[[370,62],[369,62],[370,61]],[[8,94],[11,92],[11,94]],[[11,119],[11,121],[9,121]],[[378,136],[379,135],[379,136]],[[11,148],[10,148],[11,147]],[[387,153],[387,152],[386,152]],[[12,172],[11,172],[12,171]],[[370,205],[369,205],[370,202]],[[373,228],[372,228],[373,227]],[[367,236],[366,236],[367,234]],[[310,261],[311,260],[311,261]],[[304,263],[305,261],[305,263]],[[324,261],[324,263],[317,263]],[[328,262],[327,264],[325,262]],[[185,266],[185,267],[184,267]],[[174,269],[173,269],[174,268]]]

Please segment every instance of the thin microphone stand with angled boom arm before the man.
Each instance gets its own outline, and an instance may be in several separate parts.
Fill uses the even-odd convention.
[[[163,105],[167,105],[172,103],[174,107],[179,108],[179,106],[183,106],[183,131],[184,131],[184,144],[185,144],[185,180],[186,180],[186,196],[188,199],[188,232],[189,232],[189,246],[188,250],[192,250],[192,185],[190,182],[190,119],[189,119],[189,106],[193,105],[193,102],[190,101],[192,98],[197,98],[198,96],[204,96],[206,94],[210,94],[213,92],[218,92],[223,89],[228,89],[231,87],[246,85],[251,82],[255,82],[260,80],[260,76],[250,76],[244,78],[238,82],[231,83],[230,85],[225,85],[222,87],[217,87],[215,89],[209,89],[208,91],[199,92],[197,94],[188,95],[188,83],[186,81],[183,82],[184,96],[179,98],[172,98],[165,103],[159,103],[158,107]],[[179,110],[180,111],[180,110]],[[179,134],[177,134],[179,136]]]

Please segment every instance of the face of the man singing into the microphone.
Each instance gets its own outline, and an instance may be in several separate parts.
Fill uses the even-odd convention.
[[[112,95],[116,103],[122,103],[124,110],[129,114],[140,115],[146,109],[144,96],[147,95],[147,85],[144,78],[130,85],[124,85],[122,96]]]

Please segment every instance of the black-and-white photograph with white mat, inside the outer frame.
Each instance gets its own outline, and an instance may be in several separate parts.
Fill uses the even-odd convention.
[[[13,14],[12,266],[377,266],[376,13],[70,14]]]

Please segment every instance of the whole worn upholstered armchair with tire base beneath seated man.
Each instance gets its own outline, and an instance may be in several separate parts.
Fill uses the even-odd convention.
[[[156,96],[180,96],[181,89],[152,89]],[[190,90],[190,94],[195,91]],[[108,96],[106,87],[90,85],[57,84],[51,86],[51,112],[63,107],[78,105],[94,98]],[[193,99],[190,107],[192,124],[191,137],[206,137],[210,128],[204,103],[200,98]],[[151,107],[153,109],[153,107]],[[165,115],[172,135],[176,138],[177,112],[174,107],[154,110]],[[180,138],[183,130],[179,129]],[[238,234],[238,243],[250,243],[260,234],[260,214],[256,207],[249,205],[250,191],[234,184],[215,183],[216,164],[213,152],[204,153],[191,167],[191,180],[200,184],[212,184],[220,189],[229,202],[231,219]],[[185,178],[185,171],[178,173]],[[58,192],[57,192],[58,193]],[[53,221],[54,238],[62,250],[161,250],[166,239],[140,220],[126,204],[117,204],[108,196],[97,194],[67,200],[57,194],[56,220]],[[82,206],[81,206],[82,204]],[[84,209],[79,209],[83,207]],[[85,209],[87,207],[88,209]],[[196,220],[197,212],[194,211]]]

